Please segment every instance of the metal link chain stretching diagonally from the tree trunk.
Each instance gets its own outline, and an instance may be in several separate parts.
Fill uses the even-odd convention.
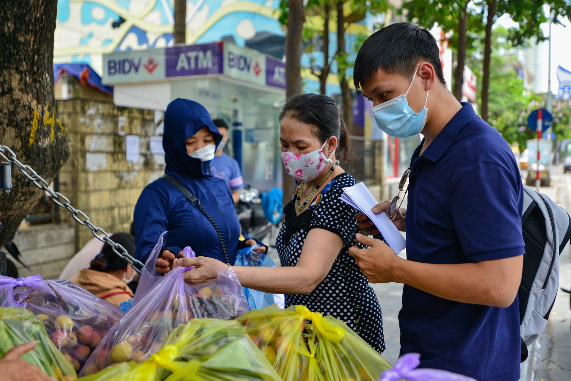
[[[113,252],[115,252],[115,254],[119,256],[119,258],[122,258],[126,260],[128,263],[130,263],[133,270],[135,270],[138,274],[141,273],[144,264],[140,262],[140,260],[136,260],[135,258],[133,258],[131,255],[128,254],[127,250],[125,250],[123,246],[113,242],[109,234],[106,231],[104,231],[102,228],[95,226],[89,220],[89,217],[84,212],[71,206],[70,200],[66,196],[64,196],[60,192],[56,192],[53,189],[51,189],[49,183],[45,181],[40,175],[38,175],[32,167],[26,164],[22,164],[20,161],[18,161],[16,155],[14,154],[14,151],[9,149],[9,147],[0,146],[0,156],[5,161],[13,163],[15,166],[17,166],[19,170],[25,175],[25,177],[30,179],[35,186],[48,192],[51,195],[51,199],[53,200],[53,202],[55,202],[62,208],[66,208],[67,210],[69,210],[71,214],[73,214],[74,220],[76,220],[79,224],[83,226],[89,227],[95,238],[99,239],[101,242],[107,242],[108,244],[110,244],[111,248],[113,249]],[[60,200],[62,200],[63,202],[61,202]],[[103,238],[101,238],[99,234],[102,234]],[[139,266],[139,268],[136,266]]]

